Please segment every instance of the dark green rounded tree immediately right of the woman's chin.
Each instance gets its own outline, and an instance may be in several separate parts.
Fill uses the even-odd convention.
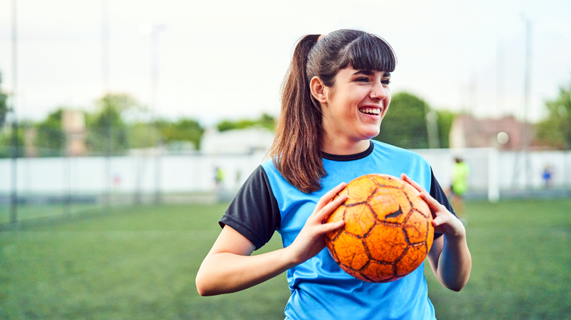
[[[374,139],[405,149],[428,148],[426,112],[430,106],[408,92],[395,94]]]

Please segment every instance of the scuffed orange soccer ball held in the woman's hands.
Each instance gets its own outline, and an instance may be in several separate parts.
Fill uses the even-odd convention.
[[[325,236],[341,269],[357,279],[389,282],[403,278],[424,261],[433,244],[433,216],[420,193],[386,174],[368,174],[339,192],[345,203],[325,222],[345,226]]]

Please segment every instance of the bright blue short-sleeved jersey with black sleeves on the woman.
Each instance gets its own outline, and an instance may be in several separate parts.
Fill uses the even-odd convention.
[[[400,177],[405,173],[452,211],[430,165],[412,151],[372,141],[369,149],[360,154],[325,154],[323,166],[328,174],[323,178],[323,188],[305,194],[291,186],[272,161],[262,164],[238,192],[221,225],[232,226],[250,239],[256,249],[269,241],[274,231],[281,234],[283,246],[289,246],[323,194],[343,181],[365,174]],[[423,266],[403,279],[375,284],[345,273],[324,249],[303,264],[288,269],[291,296],[285,307],[285,318],[435,319]]]

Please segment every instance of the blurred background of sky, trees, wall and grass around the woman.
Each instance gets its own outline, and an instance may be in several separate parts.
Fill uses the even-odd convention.
[[[438,319],[571,319],[569,12],[0,0],[0,318],[283,318],[283,275],[213,298],[193,280],[271,145],[295,42],[353,28],[398,57],[375,139],[424,156],[444,189],[456,158],[470,168],[473,276],[455,294],[428,272]]]

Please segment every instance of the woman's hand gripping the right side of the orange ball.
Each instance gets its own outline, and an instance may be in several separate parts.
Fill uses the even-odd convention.
[[[445,206],[440,204],[436,199],[434,199],[430,194],[417,184],[413,179],[410,179],[406,174],[401,174],[400,177],[408,182],[411,186],[420,192],[420,197],[428,204],[430,211],[433,212],[433,226],[436,232],[441,234],[446,234],[452,237],[463,237],[466,235],[466,229],[462,222],[456,218]]]

